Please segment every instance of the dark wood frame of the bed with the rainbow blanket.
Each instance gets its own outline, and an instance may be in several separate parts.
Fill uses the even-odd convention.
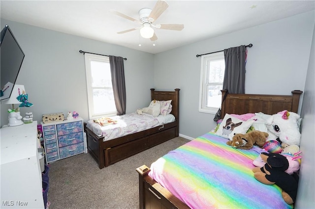
[[[222,99],[227,90],[221,90]],[[291,96],[259,95],[259,94],[227,94],[221,106],[221,118],[225,113],[245,114],[263,112],[275,114],[282,110],[298,111],[299,90],[292,91]],[[167,189],[148,176],[150,168],[143,165],[136,169],[139,173],[139,204],[140,209],[189,209],[189,207]]]

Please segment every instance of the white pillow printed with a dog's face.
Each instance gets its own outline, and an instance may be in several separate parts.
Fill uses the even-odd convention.
[[[229,114],[225,114],[216,134],[232,140],[234,133],[245,134],[252,126],[252,123],[253,120],[242,121]]]

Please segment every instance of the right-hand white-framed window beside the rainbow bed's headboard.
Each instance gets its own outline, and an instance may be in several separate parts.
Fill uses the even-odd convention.
[[[216,113],[221,106],[224,79],[224,52],[201,56],[199,111]]]

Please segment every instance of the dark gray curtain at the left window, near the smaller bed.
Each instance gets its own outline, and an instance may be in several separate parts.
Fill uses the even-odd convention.
[[[120,56],[109,56],[110,72],[112,76],[114,99],[117,115],[126,114],[126,85],[124,59]]]

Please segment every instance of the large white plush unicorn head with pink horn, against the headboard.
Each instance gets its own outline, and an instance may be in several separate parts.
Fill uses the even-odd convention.
[[[267,118],[265,124],[268,131],[279,137],[282,147],[300,145],[300,116],[298,114],[284,110]]]

